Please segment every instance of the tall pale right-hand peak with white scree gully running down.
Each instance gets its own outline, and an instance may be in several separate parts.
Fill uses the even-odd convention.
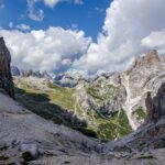
[[[124,109],[135,130],[145,119],[139,120],[133,113],[138,109],[143,109],[146,113],[145,97],[147,92],[150,91],[154,96],[161,85],[165,82],[165,67],[157,52],[153,50],[139,56],[130,69],[122,74],[121,81],[128,94]]]

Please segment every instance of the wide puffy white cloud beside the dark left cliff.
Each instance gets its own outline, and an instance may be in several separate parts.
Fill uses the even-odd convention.
[[[13,65],[26,69],[64,72],[78,59],[91,42],[82,31],[50,28],[48,30],[0,30],[12,55]]]

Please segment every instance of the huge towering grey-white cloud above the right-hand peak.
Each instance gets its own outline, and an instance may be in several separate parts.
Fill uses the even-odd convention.
[[[90,72],[124,69],[136,55],[144,53],[143,45],[152,48],[145,37],[165,28],[164,15],[164,0],[113,0],[97,43],[75,65]]]

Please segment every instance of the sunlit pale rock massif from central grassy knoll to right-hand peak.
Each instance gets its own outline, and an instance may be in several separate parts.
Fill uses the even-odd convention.
[[[151,50],[139,56],[127,72],[101,74],[90,81],[79,81],[76,100],[82,108],[103,116],[123,109],[131,127],[136,130],[145,120],[147,92],[153,97],[165,82],[163,59],[155,50]],[[114,94],[116,97],[110,97]]]

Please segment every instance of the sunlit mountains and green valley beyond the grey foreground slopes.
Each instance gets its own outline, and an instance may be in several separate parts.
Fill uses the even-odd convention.
[[[140,55],[125,72],[105,73],[92,77],[76,70],[56,76],[50,76],[46,72],[20,72],[18,67],[12,67],[11,70],[18,87],[16,96],[21,102],[36,94],[41,95],[43,101],[42,95],[46,95],[51,102],[66,111],[63,116],[61,110],[53,114],[55,118],[59,116],[62,123],[66,123],[68,118],[68,121],[70,119],[74,121],[67,124],[77,128],[77,123],[84,121],[80,122],[82,127],[78,129],[88,128],[101,140],[120,139],[136,130],[144,122],[147,113],[145,108],[147,92],[151,91],[154,96],[165,81],[164,61],[155,50]],[[19,94],[21,90],[24,90],[23,97]],[[36,112],[34,106],[32,107]],[[36,106],[36,109],[40,109],[40,106]]]

